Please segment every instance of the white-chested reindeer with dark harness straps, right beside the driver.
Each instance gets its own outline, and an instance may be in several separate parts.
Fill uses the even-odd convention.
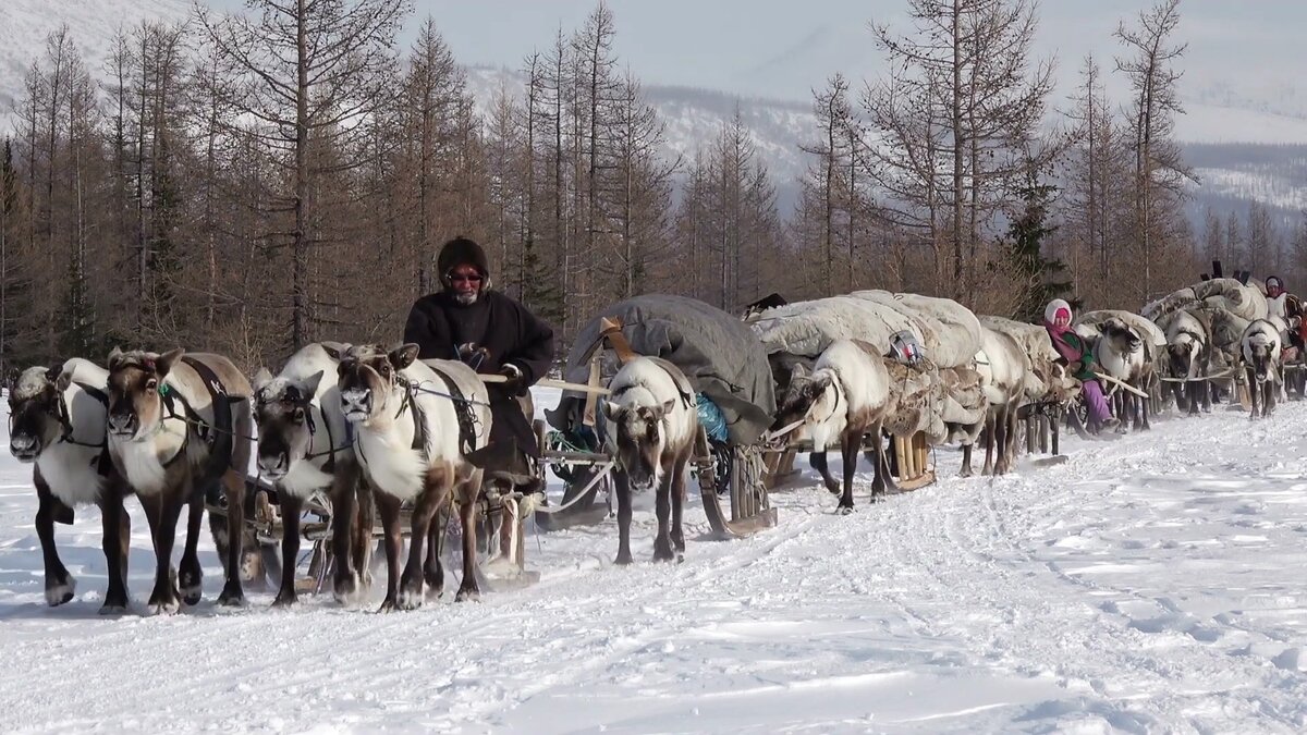
[[[463,524],[463,582],[456,600],[480,595],[476,579],[477,500],[482,470],[467,455],[490,437],[490,396],[477,374],[461,362],[418,361],[418,345],[389,352],[379,345],[350,345],[340,361],[337,388],[353,434],[363,479],[375,493],[386,543],[386,599],[382,612],[422,604],[423,582],[438,596],[444,574],[434,553],[439,528],[433,518],[446,504],[459,506]],[[400,575],[400,506],[413,501],[409,558]],[[423,564],[431,536],[433,553]]]

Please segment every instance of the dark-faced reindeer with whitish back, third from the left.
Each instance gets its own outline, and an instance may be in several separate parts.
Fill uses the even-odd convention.
[[[372,540],[372,496],[361,483],[354,447],[346,436],[340,388],[340,361],[327,350],[337,343],[312,343],[290,357],[276,377],[255,375],[255,424],[259,426],[259,472],[273,483],[282,518],[281,589],[273,606],[297,602],[294,574],[299,553],[299,514],[316,492],[328,492],[332,506],[335,596],[353,602],[369,586]]]

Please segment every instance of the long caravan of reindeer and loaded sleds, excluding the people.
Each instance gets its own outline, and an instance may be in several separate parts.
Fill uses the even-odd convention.
[[[931,446],[959,447],[959,475],[970,476],[972,449],[983,442],[982,475],[1012,472],[1022,425],[1027,453],[1035,451],[1042,433],[1039,446],[1047,449],[1052,438],[1057,455],[1063,421],[1085,438],[1106,439],[1149,430],[1150,416],[1172,399],[1188,415],[1226,399],[1243,403],[1253,419],[1266,417],[1285,394],[1286,361],[1295,352],[1287,348],[1290,330],[1300,319],[1231,279],[1182,289],[1141,314],[1082,314],[1073,328],[1091,345],[1119,420],[1115,432],[1099,433],[1081,419],[1080,383],[1038,324],[976,316],[949,299],[889,292],[799,303],[772,294],[752,305],[744,319],[693,299],[640,298],[618,307],[643,310],[643,322],[622,324],[613,314],[637,311],[618,309],[591,328],[593,344],[580,345],[569,360],[569,370],[584,383],[562,383],[565,400],[546,412],[552,422],[562,422],[555,434],[575,438],[579,434],[569,432],[588,432],[599,443],[588,454],[555,451],[544,439],[541,447],[546,463],[600,468],[584,475],[587,487],[569,493],[565,506],[592,494],[596,479],[612,473],[620,565],[634,561],[631,494],[642,490],[655,493],[652,560],[685,552],[690,471],[699,476],[714,530],[741,536],[775,522],[766,496],[796,451],[810,453],[813,468],[839,498],[835,511],[847,514],[853,511],[861,453],[870,462],[874,502],[932,480],[937,468],[925,462]],[[660,318],[654,315],[657,309],[665,310]],[[702,335],[718,341],[695,345],[707,337],[685,339],[701,333],[695,320],[704,322],[698,324]],[[668,339],[668,328],[681,333]],[[723,361],[735,357],[723,335],[745,356],[736,358],[741,373],[720,374]],[[672,352],[664,352],[664,344],[674,345]],[[481,521],[491,501],[523,501],[521,494],[493,488],[512,487],[512,477],[544,481],[544,464],[488,466],[486,458],[502,453],[486,443],[486,385],[461,362],[417,360],[412,344],[314,343],[277,374],[260,369],[252,381],[218,354],[114,349],[103,368],[72,358],[24,370],[10,379],[9,411],[10,454],[33,464],[46,600],[68,603],[76,589],[59,557],[55,524],[94,505],[108,573],[105,613],[129,607],[131,524],[124,504],[132,497],[145,510],[157,560],[146,603],[153,613],[200,602],[197,547],[205,509],[225,577],[217,602],[246,603],[243,555],[267,543],[271,526],[261,517],[269,496],[276,497],[281,536],[274,606],[298,600],[301,515],[312,507],[331,517],[329,530],[315,543],[329,540],[323,549],[335,598],[357,604],[369,591],[371,549],[380,539],[387,569],[380,608],[391,611],[442,595],[446,514],[457,515],[461,536],[455,599],[476,599],[485,572],[478,557],[494,555],[491,544],[484,551],[478,545],[478,535],[485,540],[489,528]],[[537,430],[545,436],[542,426]],[[826,464],[826,451],[836,447],[839,481]],[[251,453],[254,479],[247,471]],[[729,519],[718,506],[718,497],[727,496]],[[174,572],[183,506],[190,509],[187,539]],[[260,518],[250,517],[251,507],[263,509],[255,511]],[[544,507],[537,514],[565,510]],[[519,513],[514,505],[505,518],[520,526]],[[252,531],[259,528],[261,534]],[[512,543],[520,555],[520,538]]]

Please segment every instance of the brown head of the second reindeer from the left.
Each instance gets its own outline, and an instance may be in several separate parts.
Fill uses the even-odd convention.
[[[156,352],[123,352],[116,347],[108,354],[108,434],[120,441],[141,441],[157,432],[166,419],[163,382],[186,350],[176,348],[165,354]]]

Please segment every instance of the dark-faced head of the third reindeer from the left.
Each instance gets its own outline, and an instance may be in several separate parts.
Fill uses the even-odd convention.
[[[254,420],[259,425],[259,472],[273,483],[290,473],[312,447],[311,403],[322,382],[319,370],[307,378],[273,378],[267,369],[254,377]]]

